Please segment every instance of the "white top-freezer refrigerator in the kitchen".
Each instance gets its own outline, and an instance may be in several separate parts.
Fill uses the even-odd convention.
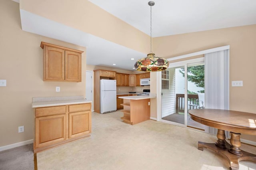
[[[116,111],[116,80],[100,80],[100,113]]]

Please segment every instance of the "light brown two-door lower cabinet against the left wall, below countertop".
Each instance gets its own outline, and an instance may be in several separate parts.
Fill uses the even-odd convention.
[[[35,108],[34,153],[91,133],[91,103]]]

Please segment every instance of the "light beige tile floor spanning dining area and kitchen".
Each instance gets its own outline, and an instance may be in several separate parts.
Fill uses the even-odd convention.
[[[38,170],[228,170],[215,152],[197,149],[198,140],[216,136],[153,120],[123,123],[122,112],[92,113],[92,134],[37,154]],[[242,144],[256,154],[256,147]],[[256,162],[240,161],[240,170],[255,170]]]

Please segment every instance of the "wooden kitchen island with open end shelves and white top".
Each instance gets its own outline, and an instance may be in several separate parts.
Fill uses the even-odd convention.
[[[124,103],[121,104],[124,106],[124,116],[121,119],[125,123],[134,125],[150,119],[150,99],[156,98],[155,94],[119,98],[124,99]]]

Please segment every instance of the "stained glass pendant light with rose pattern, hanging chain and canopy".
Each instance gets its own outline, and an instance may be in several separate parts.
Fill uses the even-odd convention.
[[[150,6],[150,53],[147,57],[139,59],[134,64],[134,67],[138,71],[162,71],[168,68],[169,61],[162,57],[156,57],[152,52],[152,6],[154,6],[154,1],[149,1],[148,5]]]

